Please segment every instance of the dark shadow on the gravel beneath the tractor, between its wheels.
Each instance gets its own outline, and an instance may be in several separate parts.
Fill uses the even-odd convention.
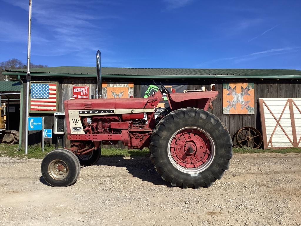
[[[143,181],[148,181],[155,185],[163,185],[166,187],[172,187],[169,182],[166,182],[154,169],[154,165],[151,162],[151,158],[147,156],[101,156],[98,162],[94,165],[108,165],[115,167],[125,167],[129,174],[133,177],[137,177]]]

